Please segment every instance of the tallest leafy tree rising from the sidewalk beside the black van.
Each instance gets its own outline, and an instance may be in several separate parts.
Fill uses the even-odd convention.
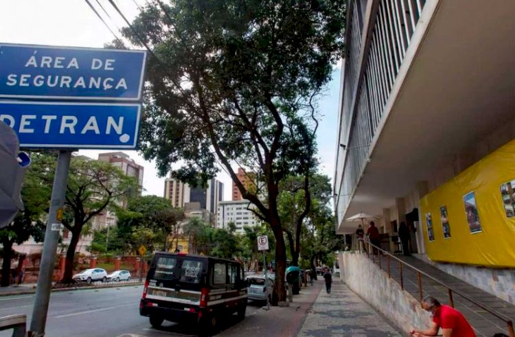
[[[124,36],[152,47],[141,150],[196,184],[218,161],[276,239],[273,303],[284,301],[279,183],[313,165],[316,98],[343,51],[345,1],[149,3]],[[244,186],[233,165],[256,172]],[[261,200],[260,196],[266,196]]]

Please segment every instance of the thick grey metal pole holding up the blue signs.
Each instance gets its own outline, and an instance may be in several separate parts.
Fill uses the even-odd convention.
[[[36,301],[32,310],[30,322],[30,336],[45,336],[50,290],[54,277],[59,230],[62,220],[62,207],[65,205],[66,185],[71,161],[71,151],[61,150],[57,159],[56,176],[52,187],[52,201],[48,212],[47,229],[43,256],[39,267],[38,286],[36,288]]]

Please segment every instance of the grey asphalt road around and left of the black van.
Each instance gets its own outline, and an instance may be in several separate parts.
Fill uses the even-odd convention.
[[[152,328],[147,317],[139,316],[139,299],[142,290],[143,286],[128,286],[53,292],[45,336],[194,336],[193,327],[166,321],[162,329]],[[30,322],[33,304],[34,294],[0,297],[0,316],[26,314]],[[258,303],[249,303],[247,316],[256,314],[260,308],[261,305]],[[222,330],[237,328],[237,325],[236,315],[233,315],[233,318],[222,326]],[[0,332],[0,337],[10,337],[11,334],[10,331]]]

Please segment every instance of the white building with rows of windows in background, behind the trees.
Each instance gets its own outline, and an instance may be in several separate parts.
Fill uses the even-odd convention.
[[[216,228],[227,229],[229,222],[236,224],[236,233],[243,233],[244,226],[256,226],[259,219],[249,208],[254,205],[249,204],[249,200],[220,201],[218,203],[218,213],[216,214]]]

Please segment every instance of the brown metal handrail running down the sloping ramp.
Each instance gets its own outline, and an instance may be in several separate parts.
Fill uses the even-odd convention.
[[[413,270],[415,270],[417,272],[417,283],[418,283],[418,287],[419,287],[418,291],[419,291],[420,301],[422,301],[422,279],[420,278],[420,275],[424,275],[428,279],[431,279],[431,280],[435,281],[436,283],[438,283],[440,286],[444,286],[445,288],[447,288],[448,296],[449,296],[449,303],[450,303],[451,307],[454,307],[453,292],[455,292],[456,294],[459,294],[459,296],[463,297],[464,299],[466,299],[470,303],[473,303],[474,305],[477,305],[478,307],[481,307],[481,309],[486,310],[487,312],[489,312],[493,316],[496,316],[501,321],[505,321],[505,323],[507,324],[507,327],[508,327],[508,334],[509,334],[509,336],[510,337],[515,337],[515,330],[514,330],[514,327],[513,327],[513,321],[508,316],[505,316],[504,314],[501,314],[500,312],[496,312],[496,310],[494,310],[491,307],[488,307],[486,305],[483,305],[482,303],[479,303],[478,301],[476,301],[476,300],[472,299],[471,297],[469,297],[467,294],[464,294],[463,292],[461,292],[459,290],[456,290],[455,288],[453,288],[451,286],[446,285],[446,283],[444,283],[442,281],[439,281],[438,279],[435,279],[435,277],[432,277],[431,275],[428,275],[426,272],[423,272],[422,270],[416,268],[415,266],[411,266],[411,264],[402,261],[402,259],[399,259],[395,255],[392,255],[391,253],[389,253],[389,252],[379,248],[378,246],[375,246],[374,244],[371,244],[371,242],[369,240],[365,239],[364,241],[369,245],[369,247],[376,248],[382,254],[387,255],[387,257],[393,257],[393,259],[396,259],[400,263],[400,284],[401,284],[401,289],[402,290],[404,290],[403,279],[402,279],[403,278],[402,277],[402,265],[406,265],[409,268],[411,268],[411,269],[413,269]],[[371,249],[367,250],[367,256],[369,256],[370,251],[371,251]],[[373,252],[372,252],[372,259],[374,260],[374,253]],[[379,257],[379,259],[380,259],[380,257]],[[390,266],[390,264],[388,263],[388,271],[387,271],[388,275],[390,275],[389,266]]]

